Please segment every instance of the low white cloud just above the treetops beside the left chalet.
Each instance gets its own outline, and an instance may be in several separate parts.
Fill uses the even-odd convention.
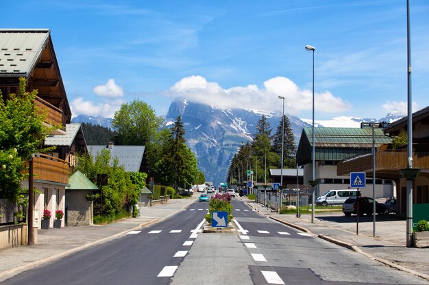
[[[71,102],[70,107],[73,117],[87,115],[113,118],[114,112],[121,108],[122,103],[121,100],[110,100],[97,104],[91,101],[85,101],[82,97],[77,97]]]

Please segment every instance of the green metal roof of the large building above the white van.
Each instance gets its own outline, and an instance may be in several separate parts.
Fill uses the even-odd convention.
[[[382,128],[374,128],[376,146],[390,144],[391,137]],[[367,154],[372,148],[372,128],[315,128],[315,160],[342,161],[356,155]],[[312,127],[302,130],[297,148],[297,163],[311,161]]]

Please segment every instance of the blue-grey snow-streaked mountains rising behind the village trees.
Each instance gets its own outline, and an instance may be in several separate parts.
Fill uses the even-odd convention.
[[[252,141],[256,133],[256,124],[262,114],[267,117],[267,122],[273,129],[272,134],[275,133],[275,129],[280,124],[281,113],[250,109],[219,109],[186,100],[174,100],[164,117],[164,126],[171,126],[177,116],[182,116],[186,129],[185,138],[188,146],[197,156],[199,169],[204,172],[208,181],[217,184],[225,180],[230,159],[241,144]],[[311,126],[312,120],[287,116],[291,122],[295,141],[298,142],[302,128]],[[393,122],[402,117],[397,113],[389,113],[380,120],[343,116],[332,120],[315,120],[315,126],[359,128],[361,122]],[[80,115],[73,118],[72,122],[89,122],[111,128],[112,119]]]

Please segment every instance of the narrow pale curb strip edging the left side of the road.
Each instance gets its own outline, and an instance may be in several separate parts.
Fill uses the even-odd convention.
[[[190,204],[192,204],[194,201],[189,202],[188,204],[186,204],[185,206],[183,206],[182,208],[187,208]],[[60,254],[56,254],[53,256],[49,256],[47,258],[44,258],[42,260],[38,260],[38,261],[34,261],[25,265],[21,265],[20,267],[16,267],[14,269],[9,269],[7,271],[3,271],[0,272],[0,282],[3,282],[5,280],[8,280],[12,277],[14,277],[15,275],[18,275],[20,273],[23,273],[25,271],[29,271],[30,269],[34,269],[36,267],[40,267],[48,262],[54,261],[54,260],[58,260],[60,258],[63,258],[65,256],[69,256],[70,254],[74,254],[75,252],[79,252],[83,249],[86,249],[88,247],[92,247],[93,245],[97,245],[99,243],[104,243],[106,241],[109,241],[111,239],[115,239],[118,236],[124,235],[127,232],[131,232],[132,230],[138,230],[140,228],[146,228],[147,226],[151,226],[154,223],[158,223],[159,221],[162,221],[164,219],[167,219],[169,217],[171,217],[172,215],[177,214],[178,212],[180,212],[182,210],[178,210],[175,211],[174,213],[171,213],[170,215],[167,215],[166,217],[162,217],[162,218],[156,218],[156,219],[151,219],[150,221],[145,221],[144,223],[140,223],[138,226],[135,226],[134,228],[131,228],[129,230],[124,230],[122,232],[118,232],[117,234],[113,234],[112,236],[107,236],[103,239],[99,239],[97,241],[93,241],[91,243],[87,243],[85,245],[80,245],[79,247],[75,247],[72,249],[67,250],[66,252],[61,252]]]

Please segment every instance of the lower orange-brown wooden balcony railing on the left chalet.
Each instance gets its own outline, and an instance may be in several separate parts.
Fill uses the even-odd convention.
[[[34,157],[33,165],[34,174],[36,174],[35,179],[69,183],[69,163],[66,161],[40,154],[40,157]]]

